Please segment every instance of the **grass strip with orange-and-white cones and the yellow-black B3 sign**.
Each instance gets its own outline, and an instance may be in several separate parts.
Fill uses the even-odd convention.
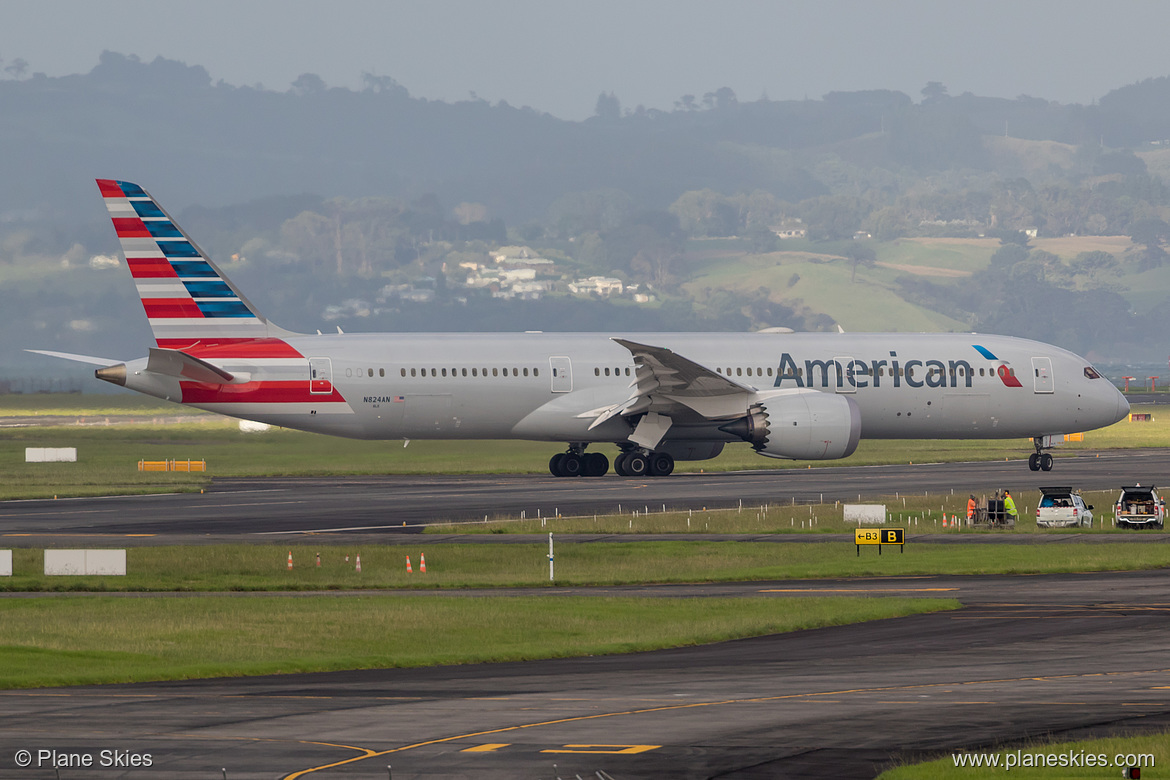
[[[11,592],[344,591],[610,586],[651,582],[743,582],[845,577],[1031,574],[1170,566],[1170,545],[1137,543],[886,546],[860,554],[852,543],[613,541],[549,545],[211,545],[131,547],[125,577],[46,577],[42,552],[13,550]],[[288,555],[294,566],[288,570]],[[316,565],[317,554],[322,565]],[[362,555],[362,572],[356,571]],[[421,555],[427,572],[421,573]],[[347,557],[347,560],[346,560]],[[413,573],[406,572],[411,558]]]

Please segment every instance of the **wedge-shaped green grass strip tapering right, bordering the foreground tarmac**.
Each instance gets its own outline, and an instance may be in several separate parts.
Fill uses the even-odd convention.
[[[853,598],[8,599],[0,601],[0,689],[633,653],[957,606]]]

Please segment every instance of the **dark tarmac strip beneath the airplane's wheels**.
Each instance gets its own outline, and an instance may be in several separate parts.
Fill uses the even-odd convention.
[[[854,501],[895,492],[1016,493],[1040,485],[1116,490],[1161,484],[1170,449],[1083,453],[1060,457],[1051,472],[1020,461],[832,467],[798,470],[677,474],[629,479],[563,479],[539,475],[371,476],[213,481],[205,493],[121,496],[0,503],[0,543],[111,537],[118,544],[270,541],[275,536],[337,534],[385,540],[428,523],[483,517],[549,517],[631,510],[661,511],[763,503]],[[1100,511],[1100,510],[1099,510]],[[139,536],[146,534],[146,536]],[[325,541],[321,536],[317,543]]]

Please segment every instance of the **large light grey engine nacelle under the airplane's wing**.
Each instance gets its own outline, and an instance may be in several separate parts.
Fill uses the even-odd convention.
[[[766,457],[831,461],[848,457],[861,439],[861,409],[848,395],[813,389],[759,393],[746,416],[720,428]]]

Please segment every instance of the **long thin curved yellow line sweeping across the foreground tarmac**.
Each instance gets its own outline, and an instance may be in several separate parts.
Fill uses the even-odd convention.
[[[505,732],[509,732],[509,731],[521,731],[523,729],[537,729],[539,726],[556,726],[556,725],[563,725],[563,724],[566,724],[566,723],[581,723],[584,720],[599,720],[601,718],[617,718],[617,717],[622,717],[622,716],[651,715],[651,713],[655,713],[655,712],[669,712],[669,711],[676,711],[676,710],[691,710],[691,709],[700,709],[700,707],[725,706],[725,705],[729,705],[729,704],[764,704],[764,703],[768,703],[768,702],[780,702],[780,700],[800,699],[800,698],[813,698],[813,697],[815,697],[815,700],[823,700],[823,697],[826,697],[826,696],[841,696],[841,695],[848,695],[848,693],[880,693],[880,692],[885,692],[885,691],[925,690],[925,689],[931,689],[931,688],[934,688],[934,689],[940,689],[940,688],[941,689],[945,689],[948,686],[958,688],[958,686],[962,686],[962,685],[996,685],[996,684],[1006,684],[1006,683],[1019,683],[1019,682],[1026,682],[1026,681],[1052,682],[1052,681],[1060,681],[1060,679],[1080,679],[1080,678],[1088,678],[1088,677],[1115,677],[1115,676],[1122,677],[1122,676],[1137,676],[1137,675],[1159,675],[1159,674],[1166,674],[1166,672],[1170,672],[1170,669],[1152,669],[1152,670],[1144,670],[1144,671],[1103,671],[1103,672],[1092,672],[1092,674],[1082,674],[1082,675],[1052,675],[1052,676],[1041,676],[1041,677],[1010,677],[1010,678],[1004,678],[1004,679],[972,679],[972,681],[966,681],[966,682],[962,682],[962,683],[955,683],[955,682],[921,683],[921,684],[916,684],[916,685],[889,685],[889,686],[880,686],[880,688],[854,688],[854,689],[838,690],[838,691],[810,691],[810,692],[806,692],[806,693],[784,693],[782,696],[762,696],[762,697],[758,697],[758,698],[746,698],[746,699],[724,699],[724,700],[721,700],[721,702],[693,702],[693,703],[687,703],[687,704],[672,704],[672,705],[663,705],[663,706],[655,706],[655,707],[646,707],[646,709],[641,709],[641,710],[622,710],[622,711],[619,711],[619,712],[598,712],[598,713],[594,713],[594,715],[583,715],[583,716],[574,716],[574,717],[571,717],[571,718],[557,718],[555,720],[541,720],[541,722],[536,722],[536,723],[524,723],[524,724],[519,724],[519,725],[515,725],[515,726],[502,726],[500,729],[489,729],[489,730],[486,730],[486,731],[476,731],[476,732],[467,733],[467,734],[455,734],[455,736],[452,736],[452,737],[440,737],[438,739],[428,739],[428,740],[425,740],[425,741],[421,741],[421,743],[413,743],[411,745],[402,745],[401,747],[391,747],[390,750],[385,750],[385,751],[370,752],[366,755],[356,755],[353,758],[343,759],[340,761],[333,761],[332,764],[323,764],[321,766],[310,767],[308,769],[300,769],[300,771],[294,772],[291,774],[284,775],[281,780],[297,780],[297,778],[303,778],[304,775],[312,774],[315,772],[323,772],[324,769],[333,769],[333,768],[337,768],[339,766],[346,766],[349,764],[353,764],[355,761],[363,761],[363,760],[365,760],[367,758],[377,758],[377,757],[380,757],[380,755],[390,755],[392,753],[402,753],[402,752],[406,752],[406,751],[410,751],[410,750],[414,750],[414,748],[418,748],[418,747],[427,747],[427,746],[431,746],[431,745],[443,745],[443,744],[447,744],[447,743],[459,741],[461,739],[472,739],[472,738],[475,738],[475,737],[486,737],[488,734],[501,734],[501,733],[505,733]],[[910,702],[910,703],[918,704],[920,702],[915,700],[915,702]],[[1135,705],[1135,706],[1138,706],[1138,705]],[[1141,705],[1141,706],[1162,706],[1162,705],[1148,704],[1148,705]],[[530,709],[535,709],[535,707],[530,707]],[[355,748],[355,750],[367,750],[367,748]]]

